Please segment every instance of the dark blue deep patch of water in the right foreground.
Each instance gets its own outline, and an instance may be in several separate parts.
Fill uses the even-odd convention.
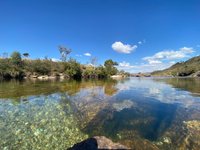
[[[157,101],[124,100],[118,103],[117,109],[116,104],[98,112],[85,128],[86,132],[115,140],[134,140],[135,137],[157,140],[171,125],[177,107]]]

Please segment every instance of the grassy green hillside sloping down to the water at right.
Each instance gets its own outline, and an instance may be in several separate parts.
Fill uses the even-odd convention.
[[[151,75],[200,77],[200,56],[193,57],[185,62],[178,62],[164,70],[154,71]]]

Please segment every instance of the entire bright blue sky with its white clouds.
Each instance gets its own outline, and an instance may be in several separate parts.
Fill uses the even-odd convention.
[[[163,69],[200,54],[200,1],[0,0],[0,55],[59,59],[58,45],[84,64]]]

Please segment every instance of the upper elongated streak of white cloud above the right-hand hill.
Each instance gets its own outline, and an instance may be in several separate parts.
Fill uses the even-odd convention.
[[[153,56],[144,57],[143,60],[147,61],[149,64],[162,63],[163,60],[177,60],[189,57],[189,54],[194,53],[192,47],[183,47],[179,50],[164,50],[154,54]]]

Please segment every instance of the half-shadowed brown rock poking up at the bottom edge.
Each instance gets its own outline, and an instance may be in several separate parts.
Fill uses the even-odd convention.
[[[119,143],[114,143],[104,136],[95,136],[75,144],[68,150],[98,150],[98,149],[129,149]]]

